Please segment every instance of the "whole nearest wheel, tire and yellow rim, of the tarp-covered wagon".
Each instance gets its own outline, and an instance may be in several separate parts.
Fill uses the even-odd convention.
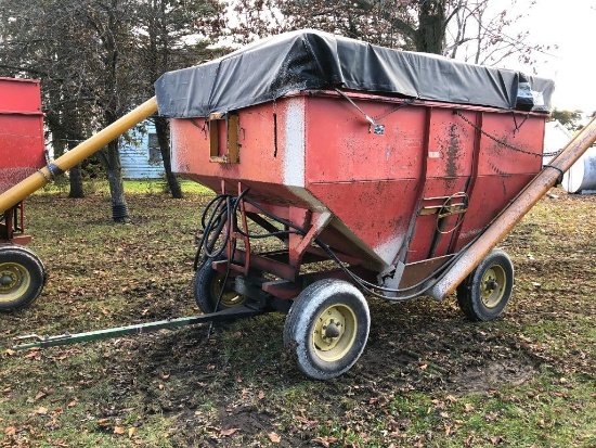
[[[370,328],[368,305],[355,286],[321,280],[294,300],[284,327],[284,346],[305,374],[328,380],[360,358]]]

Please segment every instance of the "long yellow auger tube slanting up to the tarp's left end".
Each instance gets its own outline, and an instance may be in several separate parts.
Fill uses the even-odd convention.
[[[14,207],[28,195],[50,183],[56,174],[67,171],[90,155],[96,153],[112,140],[125,133],[145,118],[157,112],[157,99],[153,97],[135,110],[129,112],[112,125],[87,139],[62,157],[56,158],[49,167],[46,166],[22,180],[16,185],[0,194],[0,213]]]

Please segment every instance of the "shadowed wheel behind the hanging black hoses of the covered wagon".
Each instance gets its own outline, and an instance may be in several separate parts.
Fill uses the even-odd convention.
[[[195,273],[193,281],[193,295],[198,308],[203,312],[215,312],[218,305],[218,298],[221,294],[223,280],[225,276],[211,267],[211,263],[205,263]],[[242,305],[247,297],[241,295],[230,287],[231,280],[228,280],[221,300],[219,302],[218,310],[232,308]]]

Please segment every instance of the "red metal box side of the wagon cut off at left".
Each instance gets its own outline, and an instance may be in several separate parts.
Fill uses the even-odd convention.
[[[44,165],[39,81],[0,78],[0,193]]]

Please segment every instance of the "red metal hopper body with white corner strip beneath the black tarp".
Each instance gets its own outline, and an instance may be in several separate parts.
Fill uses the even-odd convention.
[[[223,181],[237,194],[241,182],[265,204],[331,212],[320,239],[381,269],[458,251],[540,170],[545,115],[349,95],[235,111],[238,163],[209,162],[206,119],[172,119],[173,169],[216,191]]]

